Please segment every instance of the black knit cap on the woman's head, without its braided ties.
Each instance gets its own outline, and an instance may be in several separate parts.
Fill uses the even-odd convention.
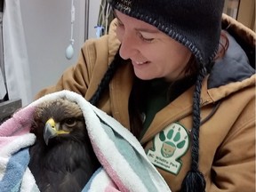
[[[108,0],[108,3],[184,44],[202,64],[210,63],[218,50],[224,0]]]

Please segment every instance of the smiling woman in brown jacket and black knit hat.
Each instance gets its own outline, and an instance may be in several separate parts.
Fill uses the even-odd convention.
[[[109,34],[36,98],[67,89],[114,116],[172,191],[254,191],[255,34],[220,0],[109,4]]]

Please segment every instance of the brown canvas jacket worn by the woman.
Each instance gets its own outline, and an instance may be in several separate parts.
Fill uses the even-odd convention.
[[[227,15],[223,15],[223,26],[228,28],[232,36],[239,38],[239,43],[243,42],[245,49],[253,50],[254,47],[255,51],[256,36],[252,30]],[[120,45],[115,30],[114,21],[108,36],[87,40],[76,65],[68,68],[57,84],[42,90],[36,98],[46,93],[67,89],[78,92],[86,100],[90,100]],[[236,61],[224,60],[220,62],[219,68],[226,68],[226,62],[233,65]],[[255,63],[252,63],[252,66],[254,65]],[[252,76],[241,75],[233,79],[231,75],[235,76],[243,70],[238,68],[236,73],[233,73],[228,69],[223,73],[230,72],[230,78],[223,80],[224,84],[218,71],[220,69],[216,67],[214,70],[217,71],[216,75],[212,72],[204,79],[201,93],[199,170],[204,173],[206,191],[252,192],[255,191],[255,73],[253,72]],[[109,84],[108,94],[102,97],[98,106],[128,129],[128,100],[132,89],[132,76],[132,65],[127,64],[118,68]],[[168,156],[161,158],[160,151],[158,158],[155,156],[155,165],[173,192],[179,191],[181,182],[189,170],[191,152],[188,143],[186,147],[184,142],[181,142],[187,138],[179,138],[179,129],[174,127],[172,136],[168,129],[173,125],[181,126],[181,131],[184,132],[182,127],[185,128],[189,137],[192,128],[193,92],[194,87],[189,88],[159,111],[140,140],[146,153],[151,157],[155,156],[157,148],[160,150],[160,145],[161,149],[168,149],[168,145],[164,146],[168,143],[172,143],[176,151],[180,151],[180,154],[177,152],[172,156],[172,161],[168,160]],[[161,132],[162,130],[168,132]],[[159,132],[161,134],[158,134]],[[170,134],[167,135],[168,133]],[[161,164],[166,167],[169,164],[174,171],[170,172],[168,167],[161,168]]]

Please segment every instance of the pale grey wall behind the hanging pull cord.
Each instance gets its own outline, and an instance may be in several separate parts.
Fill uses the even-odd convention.
[[[90,0],[89,4],[88,36],[94,37],[100,0]],[[71,60],[67,60],[65,51],[70,40],[71,0],[20,0],[33,96],[45,86],[55,84],[62,72],[76,63],[87,28],[84,28],[85,0],[75,0],[74,5],[75,53]]]

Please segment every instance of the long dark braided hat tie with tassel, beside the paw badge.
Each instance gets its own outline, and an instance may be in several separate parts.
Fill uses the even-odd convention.
[[[191,130],[191,169],[188,171],[185,179],[182,181],[182,192],[204,192],[205,180],[202,172],[198,170],[199,160],[199,129],[200,129],[200,95],[206,68],[201,67],[196,79],[196,88],[194,92],[193,104],[193,128]]]

